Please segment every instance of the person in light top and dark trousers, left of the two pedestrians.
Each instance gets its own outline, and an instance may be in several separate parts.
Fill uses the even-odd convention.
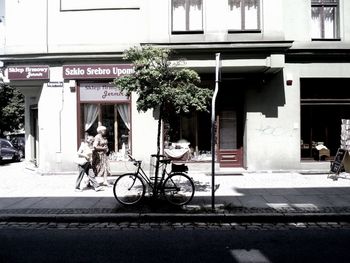
[[[76,160],[76,163],[78,164],[78,167],[79,167],[79,175],[75,183],[76,191],[82,191],[80,184],[85,174],[89,179],[89,184],[95,189],[96,192],[103,190],[103,187],[99,186],[98,182],[96,181],[95,175],[90,172],[92,168],[91,161],[92,161],[92,152],[93,152],[93,142],[94,142],[94,137],[87,136],[85,141],[81,143],[79,150],[77,152],[78,158]]]

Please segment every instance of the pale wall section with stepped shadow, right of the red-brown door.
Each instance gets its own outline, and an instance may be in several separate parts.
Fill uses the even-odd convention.
[[[300,163],[299,87],[285,85],[286,69],[246,97],[245,156],[249,170],[291,169]],[[271,78],[272,77],[272,78]]]

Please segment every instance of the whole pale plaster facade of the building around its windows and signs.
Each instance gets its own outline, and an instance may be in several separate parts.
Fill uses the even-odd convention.
[[[350,42],[350,16],[347,15],[350,2],[340,0],[341,41],[331,42],[311,41],[311,1],[262,0],[261,33],[228,33],[227,1],[204,0],[204,34],[184,35],[171,34],[170,2],[0,0],[0,9],[5,6],[5,17],[0,22],[0,32],[5,31],[5,35],[0,36],[0,56],[8,59],[9,64],[49,64],[50,81],[64,81],[62,65],[68,59],[74,61],[78,54],[84,54],[86,58],[77,58],[77,63],[114,63],[115,60],[119,63],[123,50],[140,43],[173,44],[180,51],[189,48],[186,44],[190,44],[193,53],[185,53],[190,56],[196,52],[209,52],[200,46],[208,44],[211,48],[208,50],[213,54],[200,54],[198,60],[189,60],[187,64],[203,73],[213,74],[215,52],[222,49],[220,44],[227,44],[224,50],[227,56],[223,61],[226,65],[231,63],[226,67],[227,72],[253,71],[261,73],[263,80],[261,86],[248,88],[245,94],[244,166],[249,170],[299,168],[300,78],[349,77],[350,64],[332,63],[329,66],[325,61],[283,61],[271,66],[267,60],[276,53],[274,42],[285,40],[293,41],[288,50],[292,53],[334,49],[346,52]],[[261,45],[265,45],[265,53],[257,51]],[[284,59],[282,53],[286,50],[277,54]],[[101,54],[104,56],[99,56]],[[107,54],[114,57],[107,57]],[[26,57],[30,60],[25,60]],[[270,69],[274,69],[273,74],[266,73]],[[286,85],[287,79],[292,79],[293,84]],[[61,88],[41,83],[28,87],[21,85],[21,90],[26,95],[26,129],[30,126],[29,106],[36,103],[39,106],[40,169],[43,172],[74,170],[76,92],[70,90],[68,81],[64,81]],[[151,111],[138,113],[136,100],[134,94],[132,151],[135,157],[148,161],[149,155],[156,151],[157,120]],[[30,139],[31,135],[27,134],[27,137]],[[26,158],[30,160],[31,156]]]

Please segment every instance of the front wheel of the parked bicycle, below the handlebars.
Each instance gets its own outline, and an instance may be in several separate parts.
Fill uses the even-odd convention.
[[[123,174],[114,183],[115,199],[123,205],[134,205],[145,195],[145,184],[137,174]]]

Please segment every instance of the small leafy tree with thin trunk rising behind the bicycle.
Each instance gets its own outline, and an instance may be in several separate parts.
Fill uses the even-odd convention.
[[[137,110],[157,110],[157,155],[160,154],[162,120],[167,112],[177,114],[192,110],[207,111],[212,90],[198,87],[200,78],[194,70],[176,67],[179,62],[170,61],[170,49],[152,46],[133,47],[124,52],[124,59],[131,61],[134,73],[114,80],[114,84],[126,92],[136,92]]]

